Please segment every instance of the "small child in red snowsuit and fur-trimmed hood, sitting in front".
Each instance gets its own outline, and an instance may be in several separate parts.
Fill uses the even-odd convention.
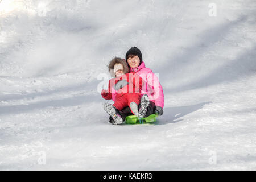
[[[113,71],[114,70],[114,71]],[[106,100],[113,100],[114,104],[104,104],[104,110],[113,119],[112,123],[118,125],[123,122],[123,118],[119,113],[120,110],[129,106],[131,113],[137,117],[143,117],[146,113],[145,110],[149,105],[147,95],[141,97],[141,89],[144,85],[142,78],[136,73],[128,73],[129,68],[125,60],[115,57],[109,63],[109,72],[115,77],[109,80],[108,90],[102,90],[101,96]],[[116,93],[114,96],[112,93]],[[138,111],[138,105],[143,107]]]

